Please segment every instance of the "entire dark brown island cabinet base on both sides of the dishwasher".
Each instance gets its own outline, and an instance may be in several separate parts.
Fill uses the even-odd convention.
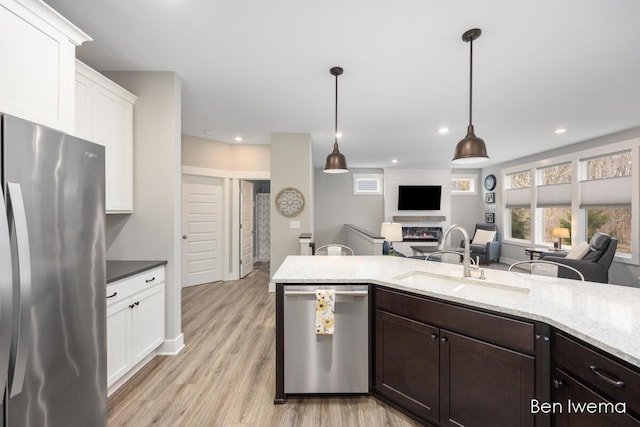
[[[423,424],[640,427],[638,366],[543,322],[383,285],[370,292],[370,393]],[[278,295],[275,402],[284,403]]]

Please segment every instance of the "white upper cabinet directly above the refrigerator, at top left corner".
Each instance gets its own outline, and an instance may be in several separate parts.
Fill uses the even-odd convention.
[[[37,0],[0,0],[0,28],[0,111],[72,133],[75,48],[91,38]]]

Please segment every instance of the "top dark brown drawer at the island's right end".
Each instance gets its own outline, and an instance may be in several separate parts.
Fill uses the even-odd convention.
[[[562,334],[554,338],[556,366],[640,414],[640,373]]]

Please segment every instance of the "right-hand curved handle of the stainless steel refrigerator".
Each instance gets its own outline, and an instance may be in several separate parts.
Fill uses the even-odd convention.
[[[27,354],[29,351],[29,335],[31,330],[31,256],[29,249],[29,233],[27,231],[27,216],[24,211],[24,200],[20,184],[7,182],[7,195],[9,205],[9,225],[13,224],[15,245],[17,252],[16,272],[19,278],[17,289],[18,306],[14,313],[14,321],[17,322],[14,331],[16,336],[11,346],[9,369],[9,397],[17,396],[22,392],[24,377],[27,369]],[[11,228],[10,228],[11,230]],[[15,298],[14,298],[15,299]]]

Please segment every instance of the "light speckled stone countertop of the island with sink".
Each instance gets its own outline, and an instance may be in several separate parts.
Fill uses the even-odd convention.
[[[372,283],[544,322],[640,367],[640,289],[390,256],[289,256],[274,283]]]

